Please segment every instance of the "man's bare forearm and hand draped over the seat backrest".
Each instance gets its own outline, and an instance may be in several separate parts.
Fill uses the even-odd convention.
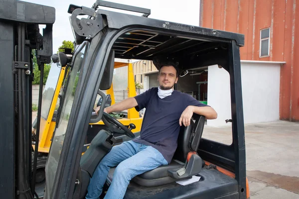
[[[184,126],[189,126],[193,113],[203,115],[206,117],[206,119],[216,119],[217,118],[217,112],[214,110],[214,108],[212,108],[210,106],[189,105],[182,112],[182,114],[179,118],[179,125],[181,126],[183,124]]]

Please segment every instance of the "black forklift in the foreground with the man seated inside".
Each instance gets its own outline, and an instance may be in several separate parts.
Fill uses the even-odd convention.
[[[0,53],[3,95],[0,98],[0,196],[38,198],[35,192],[37,157],[31,163],[30,52],[35,49],[42,80],[43,65],[51,62],[55,9],[19,0],[2,1],[1,7],[7,9],[0,12],[0,43],[5,46]],[[104,7],[142,15],[109,11]],[[111,88],[115,58],[152,60],[157,69],[162,62],[171,60],[177,62],[182,72],[218,65],[230,75],[232,118],[228,121],[232,123],[232,144],[202,138],[205,118],[194,114],[191,125],[180,129],[171,163],[132,179],[124,198],[248,199],[239,51],[244,46],[244,35],[152,19],[148,18],[149,9],[103,0],[96,0],[91,8],[70,4],[68,13],[77,48],[72,53],[72,71],[58,109],[46,161],[44,199],[84,199],[97,165],[117,142],[114,135],[135,137],[133,127],[105,113],[103,105],[96,118],[92,118],[97,94],[103,97],[102,104],[106,103],[102,91]],[[42,35],[38,24],[46,24]],[[40,88],[42,91],[42,82]],[[38,107],[37,118],[41,114],[41,100]],[[82,155],[92,119],[102,119],[108,130],[100,130]],[[37,122],[37,137],[39,130]],[[37,142],[38,139],[35,143],[38,146]],[[109,173],[101,198],[113,180],[114,169]],[[193,176],[200,180],[185,186],[176,183]]]

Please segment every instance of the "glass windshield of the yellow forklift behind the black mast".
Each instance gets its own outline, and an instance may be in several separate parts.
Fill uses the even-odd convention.
[[[48,119],[51,103],[54,97],[55,89],[59,79],[61,67],[58,63],[52,63],[45,88],[42,93],[41,102],[41,117],[45,120]]]

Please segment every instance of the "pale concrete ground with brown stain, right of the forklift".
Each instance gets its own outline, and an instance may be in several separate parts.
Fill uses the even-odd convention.
[[[231,126],[205,126],[204,138],[232,143]],[[251,199],[299,199],[299,123],[245,125]]]

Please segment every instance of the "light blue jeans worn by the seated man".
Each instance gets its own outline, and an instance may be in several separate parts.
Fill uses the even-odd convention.
[[[132,178],[167,164],[162,154],[152,146],[132,140],[123,142],[114,146],[98,165],[90,180],[86,199],[100,197],[111,167],[118,165],[105,199],[123,199]]]

